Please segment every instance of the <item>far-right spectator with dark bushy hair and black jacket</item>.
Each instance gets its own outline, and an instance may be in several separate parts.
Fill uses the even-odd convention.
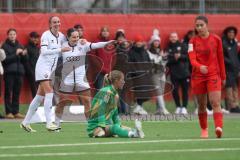
[[[236,41],[237,28],[229,26],[223,31],[223,53],[226,69],[226,106],[231,113],[240,113],[238,102],[238,75],[240,62],[238,59],[238,46]]]

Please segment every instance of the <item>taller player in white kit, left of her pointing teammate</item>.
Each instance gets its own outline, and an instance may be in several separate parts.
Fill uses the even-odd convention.
[[[36,132],[30,126],[30,120],[36,112],[38,106],[44,99],[44,112],[46,116],[46,128],[49,131],[54,131],[58,127],[51,122],[51,108],[53,101],[53,88],[50,84],[52,79],[52,73],[56,69],[57,59],[61,52],[70,51],[70,47],[62,48],[62,43],[65,40],[64,35],[59,32],[60,19],[56,16],[52,16],[49,19],[48,31],[45,31],[41,37],[41,49],[40,56],[38,58],[35,77],[39,82],[37,94],[30,103],[27,115],[21,123],[21,128],[27,132]]]

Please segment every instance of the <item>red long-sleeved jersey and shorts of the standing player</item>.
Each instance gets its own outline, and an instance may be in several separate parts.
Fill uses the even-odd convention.
[[[221,91],[226,73],[220,37],[211,33],[207,38],[195,36],[189,42],[188,53],[192,64],[191,87],[193,94]],[[207,74],[200,72],[202,65],[207,66]]]

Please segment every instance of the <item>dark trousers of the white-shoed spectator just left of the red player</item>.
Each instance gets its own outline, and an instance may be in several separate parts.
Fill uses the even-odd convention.
[[[173,84],[172,96],[177,107],[187,107],[188,105],[188,78],[175,79],[171,78]],[[180,103],[179,88],[182,89],[182,105]]]

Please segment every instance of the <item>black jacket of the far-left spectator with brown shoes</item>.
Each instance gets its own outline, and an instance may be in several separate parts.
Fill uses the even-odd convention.
[[[4,74],[19,74],[24,75],[23,63],[26,61],[26,56],[16,55],[18,48],[23,48],[18,41],[12,43],[6,40],[2,48],[6,53],[6,59],[3,61]]]

